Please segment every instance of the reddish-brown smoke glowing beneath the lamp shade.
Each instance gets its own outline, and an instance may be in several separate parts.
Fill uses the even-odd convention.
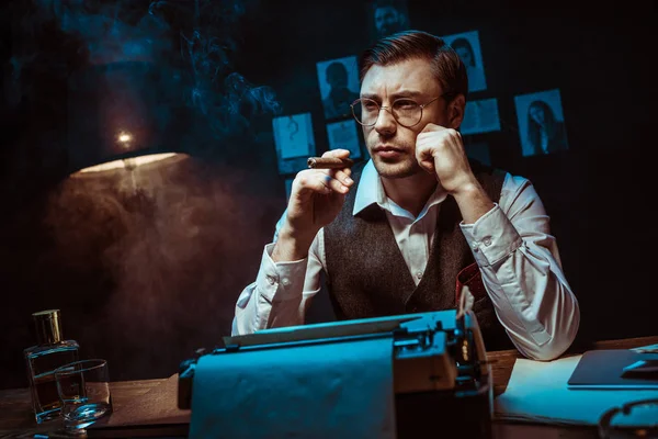
[[[106,277],[78,291],[79,314],[68,316],[90,356],[129,358],[132,371],[166,376],[182,356],[220,344],[248,283],[245,264],[258,262],[265,241],[254,230],[281,206],[245,191],[250,178],[183,156],[61,183],[46,216],[52,257],[72,275],[68,284]]]

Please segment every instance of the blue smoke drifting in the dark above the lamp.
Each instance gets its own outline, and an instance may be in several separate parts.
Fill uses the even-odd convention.
[[[131,83],[157,92],[167,104],[149,110],[190,109],[215,138],[243,133],[251,117],[280,111],[272,89],[250,83],[232,67],[239,20],[254,5],[237,0],[16,3],[10,10],[18,20],[4,75],[8,101],[15,105],[22,95],[37,92],[35,82],[44,70],[66,81],[93,66],[112,71],[114,65],[134,63],[141,72],[150,65],[152,75]],[[48,53],[37,41],[44,33],[56,34],[64,47]],[[77,91],[86,83],[67,86]]]

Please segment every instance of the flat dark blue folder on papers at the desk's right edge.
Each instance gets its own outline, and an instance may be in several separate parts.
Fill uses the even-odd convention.
[[[651,363],[658,364],[658,353],[629,349],[590,350],[582,354],[567,384],[572,390],[658,389],[658,372],[647,367]]]

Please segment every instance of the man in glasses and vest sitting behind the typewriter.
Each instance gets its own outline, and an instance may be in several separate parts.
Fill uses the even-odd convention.
[[[457,279],[481,277],[474,311],[487,349],[511,340],[526,357],[558,357],[576,336],[578,303],[532,184],[465,155],[460,57],[410,31],[366,50],[360,71],[353,109],[371,160],[296,176],[232,333],[303,324],[322,271],[339,318],[454,308]]]

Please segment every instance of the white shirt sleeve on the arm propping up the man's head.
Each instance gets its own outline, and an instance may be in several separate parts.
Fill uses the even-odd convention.
[[[519,351],[536,360],[561,354],[580,323],[548,223],[530,181],[508,173],[500,203],[461,225],[499,320]]]

